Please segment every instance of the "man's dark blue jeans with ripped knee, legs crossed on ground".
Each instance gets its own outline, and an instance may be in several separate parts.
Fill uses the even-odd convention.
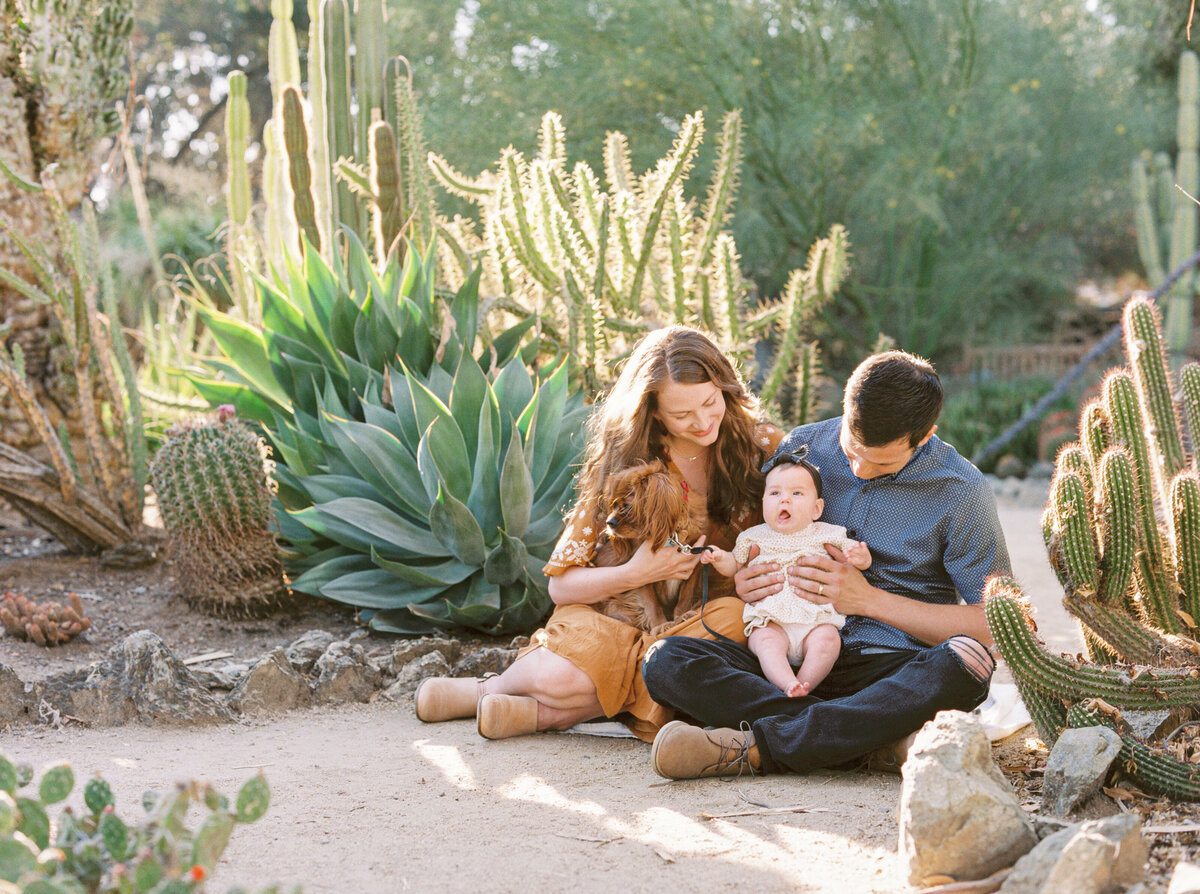
[[[646,656],[642,676],[654,701],[702,724],[749,722],[767,773],[847,764],[916,732],[940,710],[971,710],[989,684],[944,642],[865,655],[844,647],[804,698],[784,695],[736,642],[670,636]]]

